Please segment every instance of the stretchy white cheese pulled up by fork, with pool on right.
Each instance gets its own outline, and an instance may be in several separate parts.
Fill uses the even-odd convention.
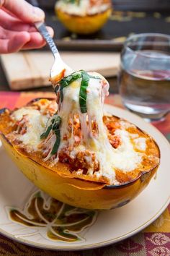
[[[77,74],[81,72],[76,72]],[[88,170],[86,175],[99,179],[101,176],[109,181],[109,184],[117,184],[115,171],[128,172],[138,168],[143,155],[135,151],[131,142],[130,133],[123,129],[117,129],[115,135],[120,137],[121,145],[113,148],[107,137],[107,128],[103,122],[104,98],[108,95],[109,84],[100,74],[89,72],[88,87],[86,88],[86,113],[81,113],[79,94],[82,78],[71,82],[63,88],[63,101],[59,102],[58,116],[61,116],[61,143],[58,148],[58,155],[66,153],[73,161],[81,154],[86,161]],[[78,145],[75,143],[73,124],[75,116],[78,116],[81,127],[81,138]],[[92,127],[96,124],[96,130]],[[55,137],[53,137],[55,139]],[[143,140],[143,144],[145,141]],[[54,145],[54,142],[51,142]],[[50,150],[48,150],[51,152]],[[88,152],[89,155],[85,154]],[[99,168],[94,171],[94,160],[99,163]],[[51,157],[50,153],[45,161]],[[53,158],[53,163],[58,161],[58,156]],[[80,172],[80,170],[78,170]]]

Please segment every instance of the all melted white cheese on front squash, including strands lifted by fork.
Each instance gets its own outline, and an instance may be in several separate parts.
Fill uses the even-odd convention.
[[[116,170],[127,173],[138,168],[146,150],[146,139],[139,137],[138,134],[128,132],[129,124],[127,121],[120,121],[120,128],[115,130],[115,135],[120,137],[120,145],[115,149],[109,142],[107,137],[107,128],[103,123],[103,105],[104,98],[108,95],[109,84],[100,74],[89,72],[89,85],[86,89],[86,108],[87,113],[82,114],[79,106],[79,92],[81,88],[81,80],[72,82],[63,88],[63,101],[58,106],[58,116],[61,116],[61,143],[58,148],[59,153],[67,153],[73,160],[76,159],[78,153],[89,153],[95,155],[95,161],[99,163],[99,169],[94,171],[94,160],[91,155],[84,155],[86,163],[88,163],[87,174],[94,176],[96,179],[104,177],[109,184],[118,184],[116,179]],[[98,77],[98,78],[97,78]],[[81,125],[81,138],[79,145],[75,145],[75,136],[73,135],[73,119],[79,116]],[[46,127],[50,123],[48,116],[42,115],[41,111],[31,107],[20,108],[14,111],[12,117],[21,121],[24,117],[27,120],[27,132],[19,135],[24,145],[28,145],[32,150],[37,150],[37,146],[42,143],[40,135],[45,132]],[[97,124],[97,131],[94,134],[92,124]],[[72,124],[72,125],[71,125]],[[66,139],[67,138],[67,139]],[[51,150],[55,143],[56,137],[50,132],[44,140],[46,152],[48,155],[44,161],[50,159],[51,165],[58,162],[58,154],[51,155]],[[69,151],[68,149],[71,148]],[[136,150],[138,148],[138,150]],[[77,174],[82,174],[79,169]]]

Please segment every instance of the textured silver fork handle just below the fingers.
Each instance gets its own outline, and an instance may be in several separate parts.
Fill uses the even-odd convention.
[[[55,46],[55,43],[53,41],[53,38],[51,38],[50,34],[48,33],[47,28],[45,27],[45,24],[43,22],[35,22],[35,27],[37,28],[37,30],[40,32],[40,34],[42,35],[42,37],[46,40],[46,42],[48,43],[48,46],[50,47],[50,50],[53,53],[53,56],[55,57],[56,54],[58,53],[58,49]]]

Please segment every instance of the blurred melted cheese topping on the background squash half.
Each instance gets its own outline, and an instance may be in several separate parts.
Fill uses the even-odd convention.
[[[107,11],[111,7],[110,0],[59,0],[56,7],[67,14],[84,17]]]

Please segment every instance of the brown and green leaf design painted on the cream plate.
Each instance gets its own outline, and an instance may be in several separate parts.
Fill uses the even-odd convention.
[[[55,200],[45,199],[42,192],[35,192],[24,206],[24,210],[9,209],[12,221],[24,226],[36,227],[40,234],[61,242],[83,240],[79,233],[91,226],[97,218],[97,211],[76,208]]]

